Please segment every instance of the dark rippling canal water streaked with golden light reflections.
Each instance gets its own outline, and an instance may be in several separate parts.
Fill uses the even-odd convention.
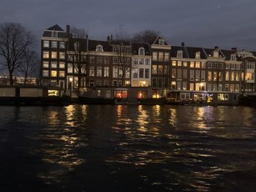
[[[10,109],[2,110],[13,114],[13,119],[0,115],[4,146],[0,150],[5,154],[11,146],[15,153],[25,155],[18,158],[24,158],[16,162],[19,166],[26,159],[39,158],[29,174],[23,172],[27,180],[33,173],[45,185],[73,191],[256,187],[249,183],[256,175],[253,108],[71,105]]]

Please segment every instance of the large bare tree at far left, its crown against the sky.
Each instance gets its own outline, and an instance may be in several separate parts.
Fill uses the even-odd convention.
[[[13,85],[13,73],[22,64],[27,47],[34,42],[34,36],[19,23],[4,23],[0,26],[1,65],[7,69],[10,85]]]

